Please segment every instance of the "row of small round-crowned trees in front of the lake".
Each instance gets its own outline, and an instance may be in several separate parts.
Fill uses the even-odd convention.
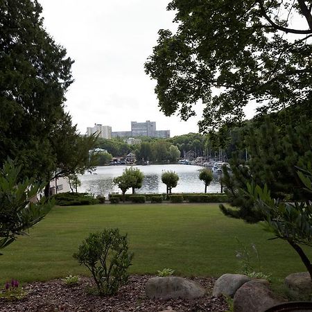
[[[207,193],[207,187],[213,179],[211,171],[207,168],[200,170],[200,180],[205,183],[205,193]],[[132,194],[135,194],[135,189],[141,189],[143,185],[144,174],[138,168],[125,168],[123,174],[119,177],[115,177],[113,182],[119,189],[121,189],[123,196],[128,189],[132,189]],[[165,171],[162,173],[162,182],[166,184],[166,193],[171,194],[171,190],[177,186],[179,176],[174,171]]]

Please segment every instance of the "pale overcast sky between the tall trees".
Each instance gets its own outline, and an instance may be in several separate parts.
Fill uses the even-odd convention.
[[[81,133],[94,123],[112,131],[130,130],[131,121],[156,121],[171,136],[198,132],[198,116],[180,121],[159,112],[155,80],[144,62],[160,28],[175,29],[169,0],[39,0],[44,26],[75,60],[75,82],[67,92],[67,110]]]

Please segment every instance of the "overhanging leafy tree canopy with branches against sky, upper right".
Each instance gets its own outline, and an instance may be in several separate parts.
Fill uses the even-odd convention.
[[[145,64],[160,109],[187,120],[205,104],[200,130],[295,107],[311,114],[311,0],[173,0],[175,34],[159,31]]]

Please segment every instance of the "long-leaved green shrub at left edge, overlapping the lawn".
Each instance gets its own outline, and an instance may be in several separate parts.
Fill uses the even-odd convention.
[[[19,235],[26,235],[53,207],[53,202],[42,198],[33,202],[43,186],[33,179],[20,182],[20,166],[12,160],[0,170],[0,249],[10,245]]]

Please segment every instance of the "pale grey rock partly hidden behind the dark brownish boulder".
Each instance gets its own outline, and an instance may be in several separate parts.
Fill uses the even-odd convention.
[[[221,295],[234,297],[236,291],[250,280],[250,277],[247,275],[223,274],[214,284],[214,291],[212,292],[212,295],[214,297],[220,297]]]

